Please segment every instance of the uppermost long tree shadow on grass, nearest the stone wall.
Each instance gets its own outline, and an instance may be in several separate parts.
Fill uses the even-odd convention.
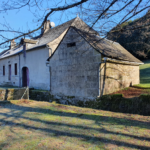
[[[128,118],[117,118],[117,117],[108,117],[108,116],[101,116],[101,115],[93,115],[93,114],[84,114],[84,113],[71,113],[71,112],[64,112],[64,111],[58,111],[58,110],[52,110],[51,108],[34,108],[34,107],[28,107],[28,106],[20,106],[15,104],[6,104],[3,105],[4,108],[10,108],[12,111],[20,110],[19,114],[22,116],[24,112],[36,112],[36,113],[43,113],[43,114],[49,114],[53,116],[62,116],[62,117],[71,117],[71,118],[80,118],[80,119],[88,119],[88,120],[94,120],[95,123],[100,123],[102,120],[103,122],[107,122],[110,124],[118,124],[118,125],[125,125],[125,126],[135,126],[145,129],[150,129],[150,122],[144,122],[144,121],[137,121]],[[13,113],[13,112],[12,112]],[[115,112],[118,113],[118,112]],[[6,116],[11,116],[11,113],[7,113]],[[14,114],[13,114],[14,116]],[[16,114],[16,117],[18,115]]]

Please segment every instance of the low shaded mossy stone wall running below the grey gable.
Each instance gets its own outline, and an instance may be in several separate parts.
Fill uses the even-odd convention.
[[[38,101],[56,101],[66,105],[75,105],[113,112],[150,115],[150,95],[136,98],[124,98],[122,94],[104,95],[96,99],[81,99],[80,97],[51,95],[49,91],[30,91],[30,99]]]

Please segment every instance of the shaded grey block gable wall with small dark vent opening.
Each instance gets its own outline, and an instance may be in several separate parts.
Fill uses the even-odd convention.
[[[67,46],[75,43],[75,46]],[[53,95],[93,98],[99,95],[101,54],[70,28],[50,58]]]

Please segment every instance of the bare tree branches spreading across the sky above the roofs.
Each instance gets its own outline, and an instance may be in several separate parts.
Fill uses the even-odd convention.
[[[12,10],[20,11],[27,8],[40,25],[34,29],[11,28],[9,22],[1,22],[3,29],[0,30],[0,46],[7,46],[13,39],[24,36],[34,36],[33,33],[42,28],[44,23],[54,13],[71,10],[73,14],[79,13],[81,18],[86,21],[91,28],[97,30],[100,35],[105,36],[107,32],[116,25],[120,25],[137,15],[145,13],[150,8],[149,0],[2,0],[0,2],[0,15],[5,16]],[[39,13],[41,12],[41,13]],[[19,13],[19,12],[18,12]],[[149,24],[147,24],[149,26]],[[141,28],[142,25],[134,28]],[[127,30],[134,30],[127,29]],[[16,33],[14,37],[5,36],[4,33]],[[121,32],[121,29],[118,30]]]

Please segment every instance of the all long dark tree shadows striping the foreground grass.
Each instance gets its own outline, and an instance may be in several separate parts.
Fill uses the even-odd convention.
[[[104,134],[113,134],[113,135],[118,135],[118,132],[115,131],[108,131],[107,129],[100,129],[100,128],[93,128],[93,127],[88,127],[85,125],[72,125],[72,124],[67,124],[67,123],[61,123],[61,122],[52,122],[52,121],[45,121],[37,118],[31,118],[25,117],[24,113],[26,112],[37,112],[37,113],[42,113],[42,114],[49,114],[49,115],[54,115],[54,116],[62,116],[62,117],[71,117],[71,118],[77,118],[77,119],[86,119],[86,120],[93,120],[95,121],[95,124],[101,125],[101,123],[109,123],[110,125],[112,124],[118,124],[118,125],[124,125],[124,126],[135,126],[135,127],[140,127],[140,128],[150,128],[150,123],[148,122],[143,122],[143,121],[136,121],[136,120],[130,120],[130,119],[123,119],[123,118],[117,118],[117,117],[107,117],[107,116],[100,116],[100,115],[93,115],[93,114],[78,114],[78,113],[70,113],[70,112],[62,112],[62,111],[57,111],[57,110],[51,110],[51,109],[42,109],[42,108],[31,108],[27,106],[20,106],[20,105],[15,105],[15,104],[7,104],[3,105],[3,108],[10,109],[11,111],[9,113],[4,113],[1,112],[0,116],[3,116],[2,119],[0,119],[1,123],[4,123],[6,126],[17,126],[17,127],[22,127],[25,129],[32,129],[32,130],[39,130],[43,133],[51,133],[53,136],[60,137],[60,136],[67,136],[67,137],[75,137],[75,138],[82,138],[83,140],[89,142],[89,143],[95,143],[95,142],[103,142],[104,144],[116,144],[117,146],[125,146],[128,148],[138,148],[138,149],[150,149],[148,146],[139,146],[136,144],[130,144],[127,142],[123,141],[117,141],[117,140],[111,140],[106,137],[97,137],[97,136],[92,136],[92,135],[86,135],[86,134],[79,134],[79,133],[74,133],[72,131],[60,131],[59,129],[63,126],[69,127],[69,128],[76,128],[76,129],[82,129],[85,130],[86,132],[88,130],[95,130],[96,132],[99,133],[104,133]],[[19,112],[18,112],[19,110]],[[16,112],[17,111],[17,112]],[[9,120],[9,118],[13,118],[12,121]],[[35,123],[43,123],[46,125],[51,126],[50,128],[42,128],[42,127],[36,127],[34,125],[28,125],[25,123],[15,123],[15,120],[18,119],[26,119],[26,120],[31,120],[34,121]],[[53,127],[58,126],[58,129],[55,129]],[[71,133],[72,132],[72,133]],[[125,136],[125,137],[130,137],[134,138],[137,140],[147,140],[150,141],[150,138],[142,137],[142,136],[135,136],[135,135],[130,135],[130,134],[125,134],[125,133],[119,133],[119,135]],[[91,140],[92,139],[92,140]]]

